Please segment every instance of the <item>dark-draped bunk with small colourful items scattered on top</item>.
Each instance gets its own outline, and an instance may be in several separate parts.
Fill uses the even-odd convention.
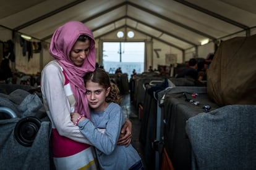
[[[197,96],[194,98],[195,93]],[[198,113],[215,110],[218,106],[208,99],[206,87],[173,87],[158,93],[159,100],[163,96],[164,148],[174,169],[191,169],[192,152],[185,129],[186,121]],[[207,105],[210,109],[205,110],[204,106]]]

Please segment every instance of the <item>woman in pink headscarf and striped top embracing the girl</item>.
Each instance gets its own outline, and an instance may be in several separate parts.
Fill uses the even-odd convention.
[[[54,60],[43,68],[41,92],[51,120],[54,168],[97,169],[93,144],[80,133],[70,116],[75,111],[91,118],[83,76],[95,70],[93,33],[81,22],[67,22],[54,32],[49,53]],[[130,144],[132,125],[126,122],[118,144]]]

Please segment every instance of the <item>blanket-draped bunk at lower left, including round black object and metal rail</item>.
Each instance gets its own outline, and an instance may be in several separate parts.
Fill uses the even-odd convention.
[[[51,169],[51,126],[37,94],[0,94],[1,169]]]

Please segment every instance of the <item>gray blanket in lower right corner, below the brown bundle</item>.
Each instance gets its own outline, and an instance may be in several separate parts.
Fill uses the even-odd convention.
[[[255,169],[256,105],[227,105],[189,118],[192,169]]]

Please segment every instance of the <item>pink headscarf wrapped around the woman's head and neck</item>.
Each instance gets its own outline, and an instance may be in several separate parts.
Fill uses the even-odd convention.
[[[70,51],[80,35],[85,34],[91,38],[90,52],[83,65],[77,67],[70,60]],[[85,73],[95,70],[95,40],[92,31],[83,23],[77,21],[67,22],[60,26],[51,38],[49,53],[57,60],[69,79],[76,104],[75,111],[90,118],[87,98],[85,97]]]

